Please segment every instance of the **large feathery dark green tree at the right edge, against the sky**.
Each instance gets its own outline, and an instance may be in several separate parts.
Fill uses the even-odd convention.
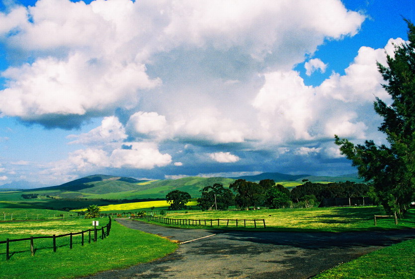
[[[386,134],[388,145],[366,140],[354,145],[335,135],[342,154],[356,166],[359,176],[371,181],[385,208],[395,218],[402,217],[415,197],[415,26],[408,24],[409,43],[396,45],[388,66],[377,63],[387,84],[383,88],[392,98],[388,105],[379,98],[374,109],[383,118],[379,131]]]

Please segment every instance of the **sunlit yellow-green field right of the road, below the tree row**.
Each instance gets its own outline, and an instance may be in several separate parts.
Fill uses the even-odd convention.
[[[249,211],[205,211],[188,213],[172,213],[163,217],[174,219],[265,219],[267,231],[361,231],[382,229],[403,229],[415,227],[415,210],[409,210],[405,219],[399,220],[398,226],[392,218],[379,219],[374,226],[373,215],[384,214],[382,209],[374,206],[362,207],[330,207],[330,208],[290,208],[261,209]],[[241,224],[241,223],[239,223]],[[168,225],[173,226],[173,225]],[[230,227],[235,229],[235,222]],[[260,227],[261,224],[259,223]],[[180,226],[195,228],[195,226]],[[204,226],[197,226],[198,228]],[[217,226],[214,226],[218,228]],[[247,229],[252,229],[249,223]],[[206,226],[205,228],[211,228]],[[219,228],[224,228],[220,226]],[[229,227],[228,227],[229,228]]]

